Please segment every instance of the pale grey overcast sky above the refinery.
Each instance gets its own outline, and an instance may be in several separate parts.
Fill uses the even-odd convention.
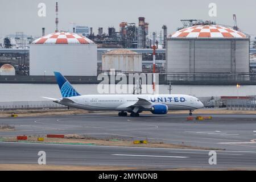
[[[0,36],[24,34],[40,36],[42,27],[46,34],[55,31],[54,0],[0,0]],[[160,32],[163,24],[167,25],[168,34],[181,27],[180,19],[203,19],[219,24],[233,26],[233,14],[237,15],[238,27],[247,34],[256,34],[255,0],[59,0],[59,30],[68,31],[70,23],[93,27],[97,34],[98,27],[108,32],[108,27],[119,30],[120,22],[138,24],[138,17],[144,16],[149,23],[149,31]],[[38,16],[38,4],[46,4],[46,16]],[[216,3],[217,16],[210,17],[209,3]]]

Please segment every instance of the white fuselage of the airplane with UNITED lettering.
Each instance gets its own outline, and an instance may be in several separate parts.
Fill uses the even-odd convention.
[[[204,107],[198,98],[184,94],[97,94],[68,97],[66,100],[57,101],[57,103],[76,107],[85,110],[114,110],[114,111],[133,111],[133,105],[136,105],[139,98],[142,98],[152,105],[163,104],[168,110],[195,110]],[[150,108],[143,108],[139,111],[147,111]]]

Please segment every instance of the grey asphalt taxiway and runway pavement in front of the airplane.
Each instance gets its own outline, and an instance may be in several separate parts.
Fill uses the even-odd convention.
[[[144,169],[256,167],[256,115],[212,114],[213,119],[204,121],[187,121],[187,117],[185,114],[118,117],[105,113],[0,118],[0,124],[15,126],[15,131],[0,131],[0,137],[80,134],[226,150],[217,151],[217,165],[209,165],[209,151],[201,150],[3,142],[0,143],[0,163],[37,163],[37,152],[44,150],[48,164],[100,164]]]

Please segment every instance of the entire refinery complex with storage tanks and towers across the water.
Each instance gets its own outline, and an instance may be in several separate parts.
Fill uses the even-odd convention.
[[[46,35],[48,29],[42,27],[39,38],[16,32],[2,39],[0,67],[12,68],[3,67],[9,71],[1,71],[1,76],[13,75],[15,80],[23,77],[29,82],[34,76],[52,80],[53,71],[77,77],[75,80],[97,80],[99,73],[111,69],[152,73],[155,46],[154,70],[160,73],[163,83],[193,83],[200,79],[207,83],[226,77],[226,81],[256,82],[256,40],[237,27],[236,15],[233,27],[189,19],[181,20],[183,27],[172,34],[166,25],[160,26],[159,32],[150,32],[150,23],[138,17],[137,23],[121,22],[118,30],[111,26],[107,33],[99,27],[94,34],[92,27],[76,23],[68,31],[59,30],[57,3],[55,13],[56,27],[50,34]]]

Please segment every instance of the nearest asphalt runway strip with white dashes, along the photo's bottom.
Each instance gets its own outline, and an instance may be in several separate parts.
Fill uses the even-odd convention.
[[[68,166],[120,166],[143,170],[175,168],[255,168],[256,152],[218,151],[217,164],[210,165],[209,151],[167,148],[76,146],[63,144],[2,143],[0,163],[37,164],[39,151],[46,152],[46,164]]]

